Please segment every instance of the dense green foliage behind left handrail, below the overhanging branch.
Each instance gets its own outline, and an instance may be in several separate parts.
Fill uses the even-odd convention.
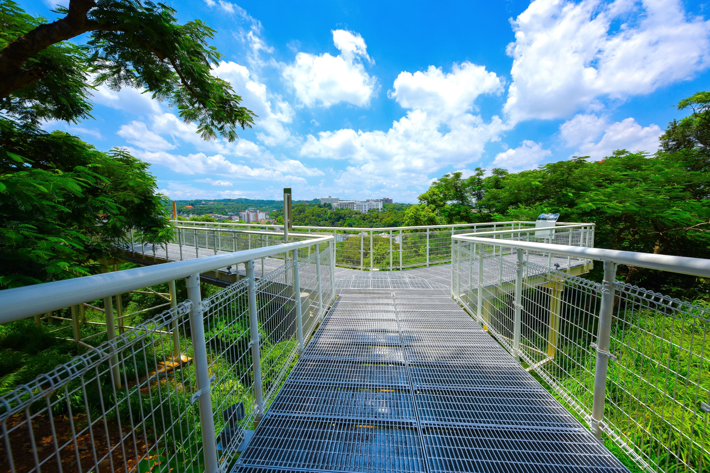
[[[165,199],[147,169],[124,150],[0,120],[0,286],[98,272],[126,228],[169,240]]]

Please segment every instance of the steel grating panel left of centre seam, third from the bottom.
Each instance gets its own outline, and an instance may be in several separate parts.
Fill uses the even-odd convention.
[[[402,365],[309,359],[299,360],[288,379],[368,386],[408,386],[409,384],[407,371]]]

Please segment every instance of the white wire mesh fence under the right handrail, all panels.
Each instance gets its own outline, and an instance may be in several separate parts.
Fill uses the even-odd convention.
[[[603,284],[572,274],[587,272],[590,262],[568,264],[566,256],[520,250],[518,265],[518,252],[504,244],[457,243],[452,291],[562,404],[591,425]],[[622,282],[611,285],[611,338],[608,352],[601,353],[608,371],[597,380],[607,447],[648,471],[707,471],[709,308]]]

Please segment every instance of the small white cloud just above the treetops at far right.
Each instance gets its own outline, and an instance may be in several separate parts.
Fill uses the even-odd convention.
[[[559,135],[565,145],[577,149],[575,156],[589,156],[594,160],[609,156],[616,150],[655,152],[661,133],[660,126],[652,124],[642,127],[633,118],[608,123],[605,118],[581,114],[559,127]]]

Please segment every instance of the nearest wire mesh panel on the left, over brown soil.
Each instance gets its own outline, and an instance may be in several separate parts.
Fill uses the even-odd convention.
[[[190,302],[0,398],[6,472],[202,472]]]

